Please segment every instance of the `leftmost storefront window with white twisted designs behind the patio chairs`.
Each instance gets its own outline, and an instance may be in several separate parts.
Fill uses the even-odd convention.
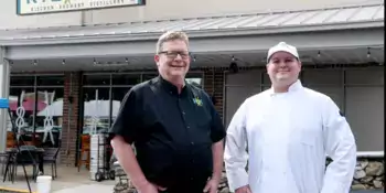
[[[12,75],[10,81],[10,109],[22,141],[39,147],[58,147],[64,76]],[[8,131],[12,131],[10,121]]]

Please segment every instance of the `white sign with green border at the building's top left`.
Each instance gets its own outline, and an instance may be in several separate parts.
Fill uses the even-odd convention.
[[[37,14],[144,4],[144,0],[17,0],[18,14]]]

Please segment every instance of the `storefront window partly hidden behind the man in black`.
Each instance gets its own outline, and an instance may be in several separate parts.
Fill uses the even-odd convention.
[[[83,77],[83,135],[107,132],[117,118],[121,101],[132,86],[157,77],[157,73],[85,74]],[[186,81],[202,87],[202,74]]]

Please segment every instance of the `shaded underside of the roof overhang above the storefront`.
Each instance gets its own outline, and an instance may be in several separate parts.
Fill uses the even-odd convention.
[[[276,33],[270,35],[227,35],[195,36],[190,43],[195,54],[210,53],[258,53],[266,52],[280,41],[288,42],[299,51],[384,47],[384,28],[356,29],[344,31],[320,31],[302,33]],[[153,55],[156,41],[139,39],[136,41],[78,42],[66,44],[23,45],[7,47],[8,60],[50,60],[99,56],[143,56]]]

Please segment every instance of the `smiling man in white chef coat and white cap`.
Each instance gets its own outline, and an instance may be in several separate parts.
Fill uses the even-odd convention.
[[[346,119],[329,96],[302,86],[294,46],[280,42],[267,62],[271,88],[247,98],[227,129],[230,191],[350,192],[356,144]],[[328,168],[326,156],[333,160]]]

